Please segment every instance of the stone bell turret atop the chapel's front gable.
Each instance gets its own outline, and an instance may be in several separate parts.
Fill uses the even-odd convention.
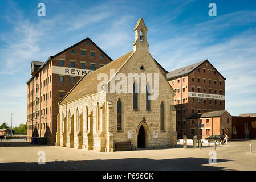
[[[133,52],[136,50],[145,50],[148,52],[149,44],[147,42],[147,27],[141,18],[137,22],[135,28],[135,42],[133,42]]]

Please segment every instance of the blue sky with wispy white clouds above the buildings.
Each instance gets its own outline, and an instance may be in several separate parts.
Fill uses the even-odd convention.
[[[46,17],[37,15],[45,3]],[[217,17],[208,15],[216,3]],[[0,1],[0,123],[27,119],[32,60],[90,37],[112,59],[133,49],[144,19],[151,55],[168,71],[208,59],[227,78],[226,110],[256,112],[255,1]]]

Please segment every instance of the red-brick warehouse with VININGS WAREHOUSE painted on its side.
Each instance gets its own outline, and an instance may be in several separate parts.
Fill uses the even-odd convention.
[[[195,126],[188,118],[195,113],[225,110],[225,80],[208,61],[170,71],[167,79],[174,90],[178,137],[192,138]]]

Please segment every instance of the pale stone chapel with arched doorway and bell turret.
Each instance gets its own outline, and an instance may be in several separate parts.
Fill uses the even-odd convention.
[[[56,146],[98,151],[114,151],[116,142],[127,141],[134,148],[176,146],[175,92],[148,52],[147,27],[142,18],[134,30],[133,51],[83,76],[60,102]],[[115,69],[114,75],[111,69]],[[98,79],[103,73],[108,76],[104,82]],[[111,84],[120,84],[116,79],[119,73],[156,74],[159,86],[149,80],[144,84],[152,90],[159,88],[158,97],[149,100],[148,92],[136,93],[135,85],[148,87],[134,77],[131,88],[121,85],[122,89],[133,89],[132,93],[109,93]],[[121,83],[124,81],[127,79],[122,77]]]

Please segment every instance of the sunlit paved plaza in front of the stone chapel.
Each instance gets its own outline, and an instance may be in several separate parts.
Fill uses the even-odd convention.
[[[253,146],[250,153],[249,144]],[[46,164],[38,164],[38,152]],[[97,152],[26,142],[0,142],[0,170],[256,170],[256,140],[233,140],[216,146],[216,164],[209,164],[213,144],[177,148]]]

